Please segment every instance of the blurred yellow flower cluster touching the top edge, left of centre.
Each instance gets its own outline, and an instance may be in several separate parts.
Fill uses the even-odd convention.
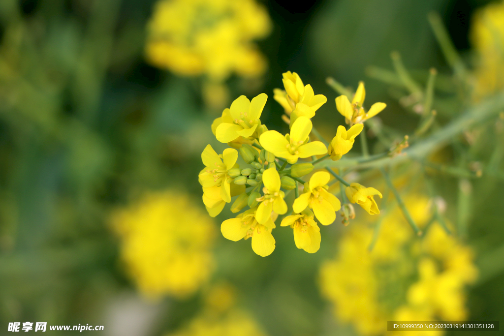
[[[161,0],[148,24],[148,60],[181,76],[225,81],[258,77],[266,59],[253,43],[271,31],[266,8],[254,0]]]

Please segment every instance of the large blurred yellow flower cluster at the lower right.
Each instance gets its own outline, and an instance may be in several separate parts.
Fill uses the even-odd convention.
[[[424,228],[432,215],[428,198],[412,195],[405,203]],[[362,335],[385,333],[387,321],[466,319],[464,287],[477,277],[472,250],[436,222],[418,239],[400,209],[393,209],[383,218],[371,252],[373,229],[355,222],[343,236],[337,257],[321,266],[321,292],[334,304],[336,317]]]

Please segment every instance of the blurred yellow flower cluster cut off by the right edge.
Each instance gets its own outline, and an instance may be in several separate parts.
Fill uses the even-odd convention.
[[[504,88],[504,1],[477,10],[469,36],[478,55],[473,92],[478,101]]]

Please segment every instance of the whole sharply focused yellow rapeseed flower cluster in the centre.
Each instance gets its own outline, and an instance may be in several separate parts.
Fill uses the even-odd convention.
[[[350,151],[355,137],[363,128],[358,123],[363,120],[360,114],[350,116],[355,124],[348,130],[345,126],[338,127],[328,152],[322,141],[310,139],[313,130],[310,118],[326,103],[327,98],[315,95],[311,86],[304,86],[296,73],[283,74],[283,83],[285,90],[275,89],[275,100],[285,110],[284,119],[289,123],[290,132],[282,135],[276,130],[268,130],[261,123],[261,114],[268,99],[266,94],[262,93],[251,101],[240,96],[212,124],[217,140],[231,148],[218,154],[208,145],[202,153],[206,167],[199,175],[203,202],[210,216],[217,216],[234,196],[231,212],[238,213],[248,207],[236,218],[225,220],[221,232],[232,241],[251,238],[252,249],[261,256],[267,256],[275,249],[272,234],[276,228],[275,220],[279,215],[287,214],[289,207],[285,197],[292,190],[295,192],[292,214],[283,218],[280,225],[294,230],[298,248],[308,253],[319,250],[321,234],[316,220],[322,225],[330,225],[341,209],[340,200],[328,191],[331,174],[336,173],[328,169],[329,172],[313,173],[309,181],[301,177],[312,172],[316,161],[341,159]],[[362,111],[364,94],[361,83],[356,94],[358,98],[354,98],[357,103],[352,106]],[[367,115],[377,113],[375,105]],[[381,109],[383,107],[380,106]],[[318,160],[317,155],[325,156]],[[247,166],[240,166],[238,157]],[[300,159],[310,161],[300,162]],[[380,213],[373,199],[373,195],[382,196],[379,191],[358,183],[345,184],[350,203],[357,203],[371,215]]]

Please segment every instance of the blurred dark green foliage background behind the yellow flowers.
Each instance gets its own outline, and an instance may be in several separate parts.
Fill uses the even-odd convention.
[[[200,155],[208,143],[217,144],[210,125],[221,110],[205,104],[197,78],[178,77],[146,61],[146,25],[154,3],[0,1],[1,334],[7,334],[9,322],[47,321],[104,325],[100,332],[107,335],[162,335],[200,311],[201,293],[157,301],[138,294],[109,225],[114,209],[149,190],[189,194],[204,210],[197,181]],[[471,15],[487,3],[264,2],[273,30],[257,44],[269,68],[254,85],[229,78],[231,100],[225,106],[241,94],[266,92],[262,122],[285,132],[272,92],[282,87],[283,72],[295,71],[328,97],[313,123],[330,139],[344,120],[326,78],[354,89],[364,80],[367,99],[388,104],[380,115],[383,123],[411,132],[415,117],[404,112],[388,85],[366,76],[367,66],[392,69],[390,52],[398,50],[418,78],[430,67],[449,74],[428,25],[431,11],[443,17],[470,63]],[[437,182],[450,217],[457,180],[441,176]],[[469,288],[468,320],[504,316],[502,187],[501,178],[487,176],[473,185],[466,241],[477,264],[490,271]],[[290,230],[277,228],[277,248],[262,258],[248,242],[232,243],[220,235],[220,221],[230,216],[226,210],[215,221],[212,279],[231,283],[239,305],[253,312],[267,334],[354,334],[334,321],[317,286],[319,265],[334,255],[344,227],[324,228],[321,249],[313,255],[295,248]]]

